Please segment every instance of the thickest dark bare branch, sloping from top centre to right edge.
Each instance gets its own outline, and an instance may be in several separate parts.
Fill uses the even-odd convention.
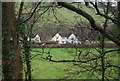
[[[67,8],[67,9],[69,9],[71,11],[76,12],[77,14],[82,15],[87,20],[89,20],[92,28],[94,28],[95,30],[99,31],[102,35],[104,35],[105,37],[107,37],[108,39],[110,39],[111,41],[113,41],[114,43],[116,43],[117,45],[120,46],[120,41],[117,38],[113,37],[112,35],[108,34],[106,31],[104,31],[104,29],[102,27],[99,27],[95,23],[94,19],[88,13],[84,12],[83,10],[81,10],[79,8],[76,8],[73,5],[65,3],[65,2],[58,2],[58,5],[59,6],[63,6],[63,7]]]

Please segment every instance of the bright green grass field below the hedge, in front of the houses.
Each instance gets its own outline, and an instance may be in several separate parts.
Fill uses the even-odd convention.
[[[34,51],[42,51],[41,48],[35,48],[32,49]],[[48,52],[50,49],[44,49],[45,52]],[[99,53],[95,49],[78,49],[83,51],[81,55],[81,59],[87,59],[87,57],[93,57],[93,55],[88,55],[85,57],[85,54],[90,51],[93,52],[96,55],[99,55]],[[107,49],[110,50],[110,49]],[[34,55],[38,54],[38,52],[32,52],[32,57]],[[40,54],[40,53],[39,53]],[[76,52],[76,49],[73,48],[52,48],[50,50],[50,54],[52,55],[53,60],[72,60],[75,58],[75,55],[78,54]],[[118,56],[117,52],[112,52],[110,54],[105,55],[106,61],[109,61],[109,63],[117,65],[118,64]],[[80,68],[78,66],[73,66],[73,63],[56,63],[56,62],[50,62],[48,60],[41,59],[41,57],[46,57],[47,54],[38,55],[35,58],[32,59],[32,78],[33,79],[98,79],[101,78],[101,72],[99,71],[88,71],[88,72],[82,72],[82,73],[76,73],[79,71],[84,71],[85,68]],[[110,61],[111,60],[111,61]],[[101,64],[101,61],[98,60],[98,64]],[[78,65],[86,66],[86,65],[92,65],[94,66],[93,62],[89,62],[87,64],[83,63],[75,63]],[[90,69],[90,68],[88,68]],[[107,72],[109,72],[111,69],[107,69]],[[117,74],[114,71],[110,71],[112,74],[111,76],[117,77]],[[94,74],[94,75],[93,75]],[[110,78],[110,77],[108,77]]]

